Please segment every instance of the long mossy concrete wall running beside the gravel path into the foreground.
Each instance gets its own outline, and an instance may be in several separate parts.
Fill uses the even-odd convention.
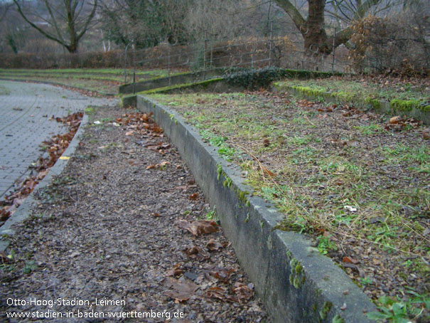
[[[372,322],[365,312],[375,306],[348,275],[305,236],[275,230],[281,213],[252,196],[240,169],[205,144],[181,116],[142,95],[124,103],[152,112],[178,148],[205,197],[216,205],[223,231],[274,322]]]

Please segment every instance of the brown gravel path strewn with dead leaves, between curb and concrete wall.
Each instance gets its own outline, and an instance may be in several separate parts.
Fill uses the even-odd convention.
[[[131,112],[95,109],[75,156],[38,191],[1,255],[1,322],[48,310],[63,313],[53,322],[270,322],[222,231],[195,222],[211,210],[178,152]],[[107,318],[151,310],[163,317]],[[104,318],[76,318],[91,311]]]

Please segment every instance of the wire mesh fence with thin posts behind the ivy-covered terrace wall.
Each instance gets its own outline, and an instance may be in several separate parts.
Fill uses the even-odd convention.
[[[301,70],[324,72],[350,71],[348,50],[333,44],[330,53],[318,52],[318,44],[304,48],[301,33],[275,36],[273,24],[269,36],[242,36],[233,39],[205,37],[189,43],[161,43],[154,48],[137,49],[129,43],[124,51],[125,81],[127,69],[163,69],[168,75],[178,71],[205,71],[214,68],[264,68],[276,66]],[[326,28],[328,31],[328,28]],[[337,28],[332,28],[335,36]],[[206,35],[205,35],[206,36]],[[315,48],[315,49],[313,49]]]

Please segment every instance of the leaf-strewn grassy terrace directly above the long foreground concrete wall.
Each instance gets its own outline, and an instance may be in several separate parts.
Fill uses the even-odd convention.
[[[387,90],[403,99],[396,93]],[[315,238],[373,300],[394,297],[409,317],[428,305],[428,129],[394,130],[387,116],[269,92],[150,97],[241,167],[254,194],[284,213],[280,229]]]

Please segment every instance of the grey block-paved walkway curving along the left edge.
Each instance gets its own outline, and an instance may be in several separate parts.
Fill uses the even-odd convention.
[[[41,157],[39,145],[66,128],[49,120],[89,105],[116,105],[116,99],[86,97],[53,85],[0,80],[0,198]]]

